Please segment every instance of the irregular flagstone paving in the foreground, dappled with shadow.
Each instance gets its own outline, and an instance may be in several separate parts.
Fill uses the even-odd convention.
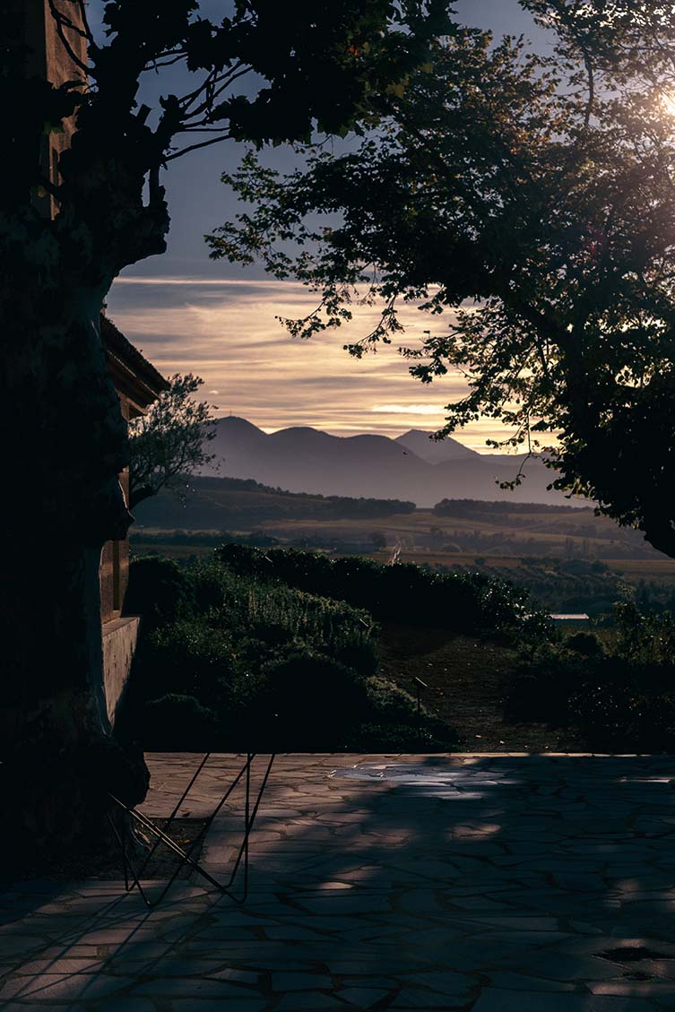
[[[149,757],[148,815],[198,760]],[[240,763],[214,756],[180,814],[213,809]],[[203,880],[150,911],[120,882],[17,883],[0,895],[0,1008],[675,1008],[673,786],[669,756],[280,756],[243,906]],[[232,802],[202,854],[219,879]]]

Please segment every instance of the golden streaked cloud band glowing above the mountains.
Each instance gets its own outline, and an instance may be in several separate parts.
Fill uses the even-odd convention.
[[[316,303],[316,293],[292,281],[139,276],[115,281],[108,313],[161,371],[196,372],[205,390],[219,392],[216,414],[241,415],[266,431],[313,425],[335,434],[394,436],[443,425],[443,406],[467,390],[461,375],[423,386],[393,345],[350,357],[343,345],[376,321],[368,307],[355,306],[350,324],[310,341],[291,338],[276,317],[305,316]],[[413,307],[402,320],[401,343],[408,345],[421,341],[431,323]],[[433,325],[445,322],[434,318]],[[486,438],[503,434],[485,419],[456,437],[486,450]]]

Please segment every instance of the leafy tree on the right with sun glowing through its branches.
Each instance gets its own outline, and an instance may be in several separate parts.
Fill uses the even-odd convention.
[[[379,302],[355,354],[392,340],[401,302],[448,313],[403,349],[425,383],[467,375],[439,435],[481,415],[514,445],[555,434],[556,486],[675,557],[675,17],[521,3],[553,55],[437,40],[356,150],[283,179],[250,155],[227,175],[254,210],[209,237],[213,255],[316,289],[317,311],[288,321],[304,336]]]

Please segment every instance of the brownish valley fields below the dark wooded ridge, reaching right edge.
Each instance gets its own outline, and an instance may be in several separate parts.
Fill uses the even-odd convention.
[[[265,500],[269,494],[250,495]],[[303,500],[298,508],[307,506]],[[443,513],[414,510],[341,519],[259,513],[248,522],[239,515],[230,517],[235,522],[226,529],[209,522],[199,530],[176,531],[173,537],[161,526],[137,529],[132,549],[137,555],[153,552],[185,560],[209,556],[222,541],[251,539],[378,562],[400,559],[445,572],[476,569],[512,580],[549,611],[599,617],[622,600],[675,611],[675,560],[655,552],[639,531],[621,529],[590,508],[510,506],[458,500],[444,504]],[[353,514],[364,505],[350,502],[348,507]]]

